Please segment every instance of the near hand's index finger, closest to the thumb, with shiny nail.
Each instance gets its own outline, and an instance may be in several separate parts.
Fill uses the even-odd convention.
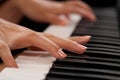
[[[67,56],[59,46],[41,34],[32,34],[29,39],[32,43],[32,46],[44,49],[50,52],[51,55],[56,58],[64,58]]]

